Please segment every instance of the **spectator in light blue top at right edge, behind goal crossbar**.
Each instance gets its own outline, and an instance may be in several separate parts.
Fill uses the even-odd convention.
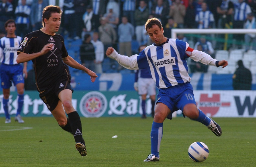
[[[247,29],[256,28],[255,16],[253,13],[249,13],[247,15],[247,21],[245,23],[244,28],[247,28]],[[245,34],[244,41],[245,41],[245,52],[249,50],[250,44],[253,45],[253,50],[256,50],[256,34],[255,33]]]

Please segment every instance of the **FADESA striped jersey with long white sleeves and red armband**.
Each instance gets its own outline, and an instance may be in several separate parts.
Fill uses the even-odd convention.
[[[203,64],[218,63],[205,52],[189,48],[189,44],[178,39],[167,39],[161,45],[147,46],[139,55],[131,57],[118,54],[115,50],[109,57],[127,69],[147,69],[158,88],[168,88],[190,82],[187,58]]]

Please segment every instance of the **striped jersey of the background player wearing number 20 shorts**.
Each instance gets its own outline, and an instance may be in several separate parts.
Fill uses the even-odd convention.
[[[17,64],[17,50],[20,46],[21,37],[16,36],[16,38],[3,37],[0,39],[0,58],[3,64]]]

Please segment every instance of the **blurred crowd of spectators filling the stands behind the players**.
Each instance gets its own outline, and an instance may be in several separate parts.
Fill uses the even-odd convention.
[[[80,48],[85,43],[84,36],[93,37],[94,32],[98,32],[99,40],[96,41],[102,42],[104,47],[100,49],[104,50],[99,51],[98,45],[92,42],[95,54],[89,60],[94,59],[95,64],[103,66],[100,72],[121,72],[124,69],[106,56],[102,58],[102,54],[96,54],[96,50],[105,53],[109,46],[113,46],[120,53],[131,56],[137,53],[138,46],[152,44],[144,29],[148,18],[160,19],[164,35],[169,38],[174,28],[255,28],[254,0],[0,0],[0,37],[5,35],[4,23],[8,19],[15,19],[16,35],[21,37],[40,29],[42,10],[47,5],[58,5],[63,10],[58,33],[70,44],[68,52],[77,60],[83,54]],[[233,37],[215,35],[215,40],[212,40],[213,35],[206,35],[205,43],[201,38],[198,35],[178,35],[178,39],[190,41],[191,47],[202,46],[202,51],[213,57],[213,49],[244,47],[246,52],[251,41],[256,40],[255,35],[243,34]],[[224,38],[226,43],[222,40]],[[194,66],[192,62],[191,68]],[[199,71],[207,72],[207,69]]]

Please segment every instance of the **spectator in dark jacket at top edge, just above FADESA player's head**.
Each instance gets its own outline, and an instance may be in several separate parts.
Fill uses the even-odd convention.
[[[164,5],[163,0],[157,0],[157,4],[152,9],[152,14],[154,17],[158,18],[162,25],[166,25],[167,17],[169,13],[169,5],[168,7]]]

